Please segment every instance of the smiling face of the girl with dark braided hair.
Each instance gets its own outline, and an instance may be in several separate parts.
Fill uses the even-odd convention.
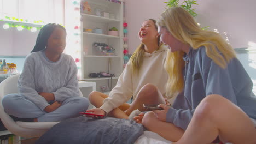
[[[64,29],[56,27],[48,39],[45,51],[60,55],[66,47],[66,35]]]

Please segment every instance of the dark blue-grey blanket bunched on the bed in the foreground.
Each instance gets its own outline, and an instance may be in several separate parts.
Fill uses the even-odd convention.
[[[54,125],[36,144],[135,143],[143,131],[142,124],[127,119],[80,116]]]

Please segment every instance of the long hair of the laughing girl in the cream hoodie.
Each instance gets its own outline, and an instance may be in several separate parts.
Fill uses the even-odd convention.
[[[154,20],[154,19],[148,19],[148,20],[154,22],[155,29],[157,31],[158,26],[156,26],[156,20]],[[146,20],[146,21],[148,21],[148,20]],[[157,38],[157,41],[158,41],[158,49],[157,50],[159,50],[162,45],[162,44],[160,44],[160,37]],[[139,69],[141,68],[141,65],[142,65],[143,59],[144,59],[144,52],[145,52],[145,45],[143,43],[139,44],[139,46],[137,47],[135,52],[133,52],[133,54],[130,58],[133,74],[139,73]]]

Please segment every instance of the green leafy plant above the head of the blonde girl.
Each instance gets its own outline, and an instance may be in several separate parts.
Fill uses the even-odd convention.
[[[198,5],[196,3],[196,1],[194,0],[187,0],[187,1],[184,1],[182,3],[182,5],[179,5],[179,0],[169,0],[168,2],[164,2],[164,3],[167,3],[167,7],[168,8],[171,8],[171,7],[176,7],[176,6],[179,6],[179,7],[182,7],[184,8],[185,10],[187,10],[193,17],[195,17],[197,14],[195,13],[195,9],[192,9],[192,6],[194,4]]]

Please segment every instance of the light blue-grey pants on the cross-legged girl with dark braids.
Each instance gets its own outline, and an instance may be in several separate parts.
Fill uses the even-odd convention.
[[[78,117],[79,112],[88,109],[89,101],[85,97],[72,97],[62,101],[62,105],[47,113],[21,94],[8,94],[2,99],[4,111],[18,118],[37,118],[38,122],[56,122]]]

